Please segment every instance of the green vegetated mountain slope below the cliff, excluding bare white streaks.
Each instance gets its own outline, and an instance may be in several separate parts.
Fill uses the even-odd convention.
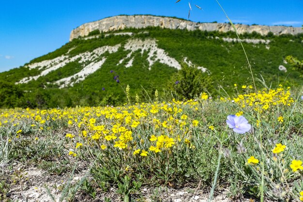
[[[116,31],[122,32],[122,31]],[[168,30],[160,28],[126,29],[123,32],[132,32],[132,35],[114,35],[115,32],[91,33],[91,39],[74,39],[42,57],[36,58],[25,66],[0,73],[1,95],[6,93],[5,101],[1,96],[1,107],[73,107],[73,106],[98,106],[98,105],[122,105],[126,102],[125,88],[130,86],[132,102],[138,94],[140,101],[154,99],[154,92],[158,90],[159,99],[168,99],[172,96],[182,98],[182,94],[174,91],[174,85],[180,78],[176,76],[178,70],[160,61],[154,62],[149,70],[149,52],[140,50],[127,55],[130,50],[122,48],[129,40],[155,40],[157,47],[163,49],[170,58],[178,61],[182,66],[187,66],[183,61],[187,58],[196,67],[203,66],[208,69],[203,73],[201,79],[205,79],[204,91],[212,96],[233,93],[233,84],[238,86],[251,85],[251,76],[242,47],[238,42],[226,42],[223,38],[236,38],[235,33],[221,33],[217,31],[186,31]],[[244,34],[242,39],[265,39],[269,44],[243,43],[252,64],[253,74],[256,78],[264,78],[268,86],[277,86],[279,83],[285,86],[303,85],[302,73],[292,69],[289,64],[284,63],[286,56],[292,55],[303,59],[303,34],[274,36],[268,34],[261,36],[258,33]],[[35,62],[52,60],[62,55],[73,57],[85,52],[92,52],[96,48],[104,46],[121,45],[117,51],[110,53],[106,51],[94,58],[101,61],[106,58],[102,67],[88,75],[83,81],[74,86],[59,88],[56,81],[79,73],[84,66],[89,64],[79,63],[83,58],[68,62],[45,76],[32,79],[28,83],[16,84],[22,78],[34,77],[44,69],[41,67],[30,69],[28,65]],[[92,54],[93,56],[94,54]],[[153,57],[153,56],[152,56]],[[126,58],[123,62],[121,59]],[[125,67],[133,58],[132,65]],[[279,71],[279,65],[284,65],[287,72]],[[111,73],[111,71],[113,71]],[[119,78],[115,78],[119,76]],[[300,77],[301,76],[301,77]],[[77,78],[72,78],[77,79]],[[119,79],[119,83],[117,82]],[[71,80],[73,81],[73,80]],[[183,81],[179,81],[183,82]],[[207,82],[207,83],[206,83]],[[200,82],[199,85],[203,85]],[[261,83],[257,83],[259,87]],[[222,88],[221,88],[221,87]],[[239,89],[240,90],[240,89]],[[21,92],[21,93],[20,93]],[[23,93],[22,93],[23,92]],[[192,94],[193,95],[193,94]]]

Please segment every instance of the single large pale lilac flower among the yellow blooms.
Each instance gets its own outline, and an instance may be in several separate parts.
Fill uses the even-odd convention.
[[[234,132],[240,134],[248,132],[251,128],[251,125],[248,124],[248,121],[243,116],[229,115],[226,123]]]

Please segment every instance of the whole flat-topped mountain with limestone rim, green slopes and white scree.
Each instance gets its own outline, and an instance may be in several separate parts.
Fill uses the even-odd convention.
[[[300,72],[284,60],[288,55],[303,58],[301,28],[236,27],[256,78],[264,78],[268,85],[303,85]],[[204,75],[196,85],[212,96],[232,93],[234,83],[252,84],[241,44],[229,24],[114,16],[81,25],[61,48],[0,73],[0,95],[5,94],[1,107],[121,105],[127,85],[132,101],[136,94],[149,101],[155,90],[160,99],[182,98],[175,87],[182,83],[176,79],[184,66]]]

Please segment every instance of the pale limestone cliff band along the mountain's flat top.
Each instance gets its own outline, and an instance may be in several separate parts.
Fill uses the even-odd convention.
[[[187,29],[189,31],[233,31],[230,24],[227,23],[196,23],[172,17],[160,16],[114,16],[102,20],[85,23],[71,32],[70,41],[79,37],[87,36],[91,31],[99,30],[103,32],[123,30],[125,28],[146,28],[146,27],[161,27],[167,29]],[[266,35],[273,32],[275,35],[280,34],[298,34],[303,33],[302,28],[299,27],[285,27],[285,26],[262,26],[262,25],[235,25],[239,33],[252,33],[256,31],[261,35]]]

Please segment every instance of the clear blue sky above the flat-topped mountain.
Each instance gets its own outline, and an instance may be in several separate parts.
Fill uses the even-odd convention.
[[[0,2],[0,72],[24,65],[69,41],[83,23],[121,14],[151,14],[195,22],[226,22],[216,0],[3,0]],[[219,0],[234,23],[303,25],[303,0]],[[197,4],[202,8],[194,7]]]

